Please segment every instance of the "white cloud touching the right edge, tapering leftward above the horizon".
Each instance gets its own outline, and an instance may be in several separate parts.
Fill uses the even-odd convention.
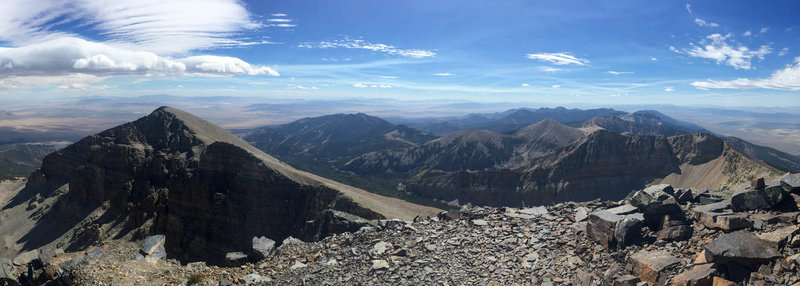
[[[699,89],[727,88],[727,89],[750,89],[764,88],[777,90],[800,90],[800,57],[794,59],[794,65],[787,65],[782,70],[775,71],[768,78],[746,79],[739,78],[730,81],[698,81],[692,85]]]

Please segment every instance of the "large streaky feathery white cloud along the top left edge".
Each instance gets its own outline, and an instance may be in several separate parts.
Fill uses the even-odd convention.
[[[180,54],[247,44],[242,31],[261,26],[236,0],[6,0],[0,1],[0,41],[24,46],[64,36],[77,24],[111,45]]]

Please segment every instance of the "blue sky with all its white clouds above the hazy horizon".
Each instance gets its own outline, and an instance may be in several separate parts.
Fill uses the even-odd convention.
[[[0,1],[0,102],[800,106],[797,1]]]

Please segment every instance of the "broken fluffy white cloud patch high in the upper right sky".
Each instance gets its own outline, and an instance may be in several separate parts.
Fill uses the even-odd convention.
[[[692,48],[684,50],[684,52],[692,57],[715,60],[717,64],[725,63],[735,69],[750,69],[750,62],[754,57],[763,60],[765,55],[772,52],[772,49],[766,45],[761,46],[758,50],[750,50],[743,45],[733,47],[727,41],[730,37],[732,37],[731,34],[725,36],[712,34],[706,37],[711,40],[711,43],[703,40],[699,43],[703,45],[702,47],[692,43]]]

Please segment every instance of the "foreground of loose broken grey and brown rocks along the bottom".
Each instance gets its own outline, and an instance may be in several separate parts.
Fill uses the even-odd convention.
[[[227,267],[165,259],[153,236],[23,254],[4,271],[27,285],[800,285],[799,193],[800,174],[735,192],[656,185],[620,202],[370,221],[277,248],[254,238]]]

